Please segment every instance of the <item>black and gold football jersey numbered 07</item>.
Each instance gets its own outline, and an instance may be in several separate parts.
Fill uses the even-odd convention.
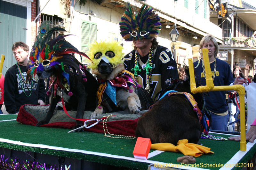
[[[131,69],[134,67],[135,51],[136,50],[131,51],[124,57],[124,68],[132,73],[134,73]],[[138,73],[138,82],[144,89],[147,85],[147,75],[142,67],[145,65],[146,64],[142,63],[139,58],[139,68],[141,72]],[[171,80],[179,78],[177,65],[171,50],[163,46],[158,46],[154,49],[153,70],[151,74],[151,83],[149,86],[152,91],[150,95],[154,100],[156,93],[170,85]]]

